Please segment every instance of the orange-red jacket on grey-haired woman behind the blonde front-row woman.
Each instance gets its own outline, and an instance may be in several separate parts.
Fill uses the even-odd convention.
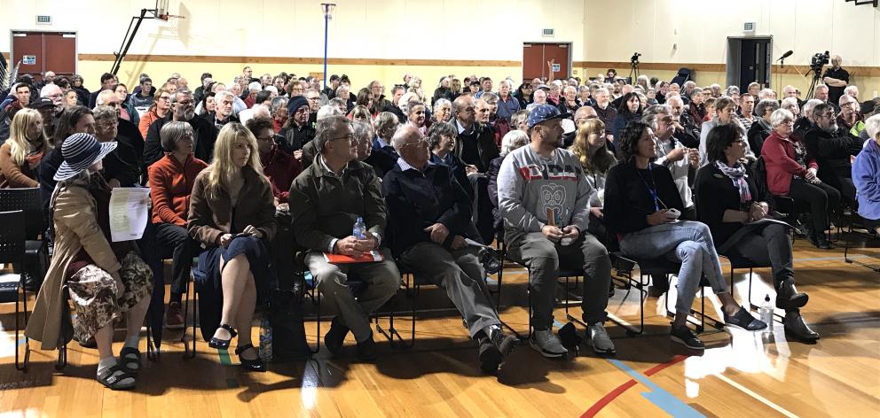
[[[184,164],[166,154],[147,168],[150,198],[153,199],[153,223],[173,223],[186,227],[195,177],[207,166],[193,154],[186,158]]]

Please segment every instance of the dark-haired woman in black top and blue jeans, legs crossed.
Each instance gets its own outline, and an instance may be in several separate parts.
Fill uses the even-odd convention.
[[[678,298],[672,341],[703,350],[703,342],[688,329],[687,320],[700,280],[706,277],[719,297],[728,326],[757,330],[766,328],[730,295],[709,227],[696,221],[680,221],[674,212],[684,211],[672,174],[651,163],[656,158],[656,136],[647,124],[634,121],[617,143],[618,165],[605,183],[605,223],[620,236],[625,256],[680,261]],[[673,211],[674,209],[674,211]]]

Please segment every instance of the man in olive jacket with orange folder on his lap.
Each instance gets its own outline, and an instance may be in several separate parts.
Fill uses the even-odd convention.
[[[388,213],[379,178],[371,166],[358,161],[358,141],[345,117],[318,120],[314,141],[319,150],[314,164],[290,186],[293,236],[296,244],[309,249],[305,263],[318,290],[339,312],[324,337],[327,350],[337,354],[350,331],[358,343],[358,358],[374,360],[378,352],[370,314],[400,286],[400,272],[382,242]],[[364,229],[355,230],[358,218]],[[381,254],[381,260],[371,258],[371,252]],[[344,257],[334,264],[326,254]],[[349,286],[350,276],[366,283],[358,298]]]

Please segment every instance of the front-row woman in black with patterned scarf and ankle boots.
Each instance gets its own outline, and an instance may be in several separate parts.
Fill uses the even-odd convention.
[[[759,266],[770,264],[776,307],[785,310],[785,330],[801,340],[819,339],[798,309],[806,305],[808,297],[795,289],[789,227],[755,223],[766,217],[769,206],[761,201],[755,182],[739,162],[745,156],[739,129],[734,125],[713,128],[706,139],[706,156],[709,164],[696,176],[696,212],[700,221],[709,225],[719,252]]]

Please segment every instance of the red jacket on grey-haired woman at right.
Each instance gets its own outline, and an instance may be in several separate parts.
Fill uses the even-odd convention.
[[[789,139],[783,139],[782,136],[774,132],[767,136],[764,146],[761,147],[761,157],[764,157],[767,170],[767,189],[774,195],[788,195],[791,177],[806,175],[807,169],[795,160],[794,143],[800,143],[798,136],[790,135]],[[819,169],[815,159],[806,159],[806,165],[808,168]]]

